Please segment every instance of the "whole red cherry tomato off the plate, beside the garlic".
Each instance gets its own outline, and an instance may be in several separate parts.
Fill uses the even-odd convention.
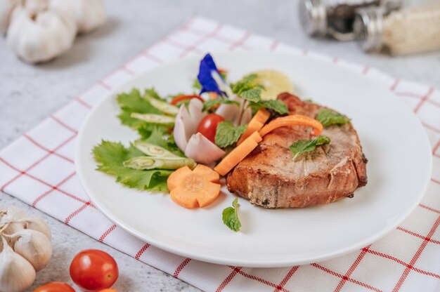
[[[70,277],[84,291],[110,288],[119,275],[111,255],[98,249],[81,251],[70,264]]]

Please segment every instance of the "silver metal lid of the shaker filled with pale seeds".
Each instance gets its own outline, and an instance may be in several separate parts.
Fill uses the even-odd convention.
[[[356,40],[365,52],[380,51],[383,45],[384,8],[365,8],[358,11],[354,19]]]

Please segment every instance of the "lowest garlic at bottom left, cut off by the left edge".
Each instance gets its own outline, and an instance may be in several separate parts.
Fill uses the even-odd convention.
[[[29,288],[35,280],[35,270],[21,255],[1,237],[0,252],[0,291],[20,292]]]

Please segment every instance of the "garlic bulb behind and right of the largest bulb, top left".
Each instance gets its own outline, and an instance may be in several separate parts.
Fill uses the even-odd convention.
[[[105,22],[104,0],[53,0],[53,5],[72,13],[81,33],[91,32]]]

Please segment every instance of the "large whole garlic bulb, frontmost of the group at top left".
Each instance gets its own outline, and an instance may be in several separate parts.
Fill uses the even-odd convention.
[[[46,0],[47,1],[47,0]],[[77,34],[75,19],[44,0],[27,0],[15,7],[6,41],[23,60],[44,62],[65,53]]]

